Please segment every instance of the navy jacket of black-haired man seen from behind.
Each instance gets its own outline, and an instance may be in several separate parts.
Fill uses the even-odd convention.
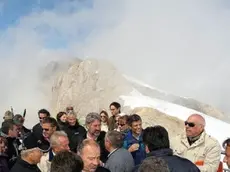
[[[200,172],[199,168],[188,159],[173,155],[172,149],[152,151],[147,156],[161,157],[164,159],[168,164],[170,172]],[[135,172],[137,171],[138,167],[135,168]]]

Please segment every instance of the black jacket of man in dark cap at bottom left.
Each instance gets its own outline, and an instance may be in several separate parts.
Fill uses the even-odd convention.
[[[16,164],[10,170],[10,172],[41,172],[37,165],[31,165],[21,158],[17,160]]]

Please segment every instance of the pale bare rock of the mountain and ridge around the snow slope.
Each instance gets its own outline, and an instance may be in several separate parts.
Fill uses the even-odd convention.
[[[193,99],[181,98],[137,84],[127,79],[111,63],[104,60],[76,60],[69,65],[69,68],[61,68],[61,70],[57,70],[59,69],[57,65],[51,64],[49,69],[53,69],[50,72],[51,76],[55,71],[59,71],[52,87],[51,107],[54,114],[71,105],[79,119],[84,121],[89,112],[108,110],[109,104],[113,101],[119,101],[123,105],[119,96],[128,95],[135,89],[142,95],[184,105],[219,119],[225,118],[223,113],[209,105],[206,106]],[[48,80],[51,79],[48,78]],[[183,131],[183,121],[153,108],[124,107],[123,111],[141,115],[144,127],[155,124],[163,125],[168,129],[170,135]]]

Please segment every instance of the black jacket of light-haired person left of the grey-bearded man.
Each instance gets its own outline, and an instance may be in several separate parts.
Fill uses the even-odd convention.
[[[86,137],[86,130],[83,126],[76,123],[75,126],[66,126],[63,128],[69,138],[69,147],[73,152],[77,152],[77,146]]]

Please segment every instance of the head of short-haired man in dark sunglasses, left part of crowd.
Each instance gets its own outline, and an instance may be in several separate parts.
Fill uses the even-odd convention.
[[[45,138],[50,138],[51,135],[57,130],[58,124],[56,119],[53,117],[46,117],[42,122],[43,136]]]

